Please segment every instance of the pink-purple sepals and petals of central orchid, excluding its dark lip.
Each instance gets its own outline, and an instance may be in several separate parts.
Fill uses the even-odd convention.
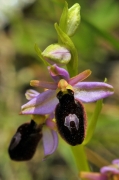
[[[47,83],[36,80],[32,81],[32,86],[41,86],[47,88],[48,90],[42,92],[41,94],[28,92],[26,96],[34,97],[21,107],[21,114],[50,114],[54,112],[58,100],[56,98],[56,90],[58,83],[61,79],[67,81],[69,85],[72,86],[74,90],[74,96],[77,100],[85,103],[94,102],[102,98],[106,98],[112,95],[113,87],[104,82],[81,82],[86,79],[90,74],[90,70],[85,70],[77,76],[70,78],[69,73],[58,67],[56,64],[48,67],[49,73],[54,80],[54,83]]]

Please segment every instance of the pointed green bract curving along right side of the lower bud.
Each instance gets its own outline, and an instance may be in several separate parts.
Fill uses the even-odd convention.
[[[72,40],[70,39],[70,37],[62,31],[62,29],[58,26],[57,23],[55,23],[55,29],[57,31],[58,38],[60,40],[59,43],[61,43],[61,45],[64,45],[67,49],[69,49],[69,51],[71,53],[71,60],[67,64],[67,68],[68,68],[70,76],[71,77],[75,76],[78,73],[78,53],[77,53],[77,50],[76,50]]]

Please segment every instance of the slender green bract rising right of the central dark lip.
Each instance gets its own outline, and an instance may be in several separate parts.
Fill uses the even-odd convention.
[[[96,107],[95,107],[94,113],[92,115],[92,118],[89,122],[89,125],[87,127],[86,138],[83,142],[83,145],[86,145],[91,140],[91,138],[94,134],[96,124],[97,124],[97,120],[98,120],[99,114],[102,110],[102,103],[103,103],[103,99],[100,99],[96,102]]]

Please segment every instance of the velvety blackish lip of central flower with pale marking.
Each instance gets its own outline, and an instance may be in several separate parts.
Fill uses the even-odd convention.
[[[58,131],[62,138],[72,146],[81,144],[85,137],[86,113],[81,102],[74,99],[70,89],[57,94],[59,104],[55,109]]]

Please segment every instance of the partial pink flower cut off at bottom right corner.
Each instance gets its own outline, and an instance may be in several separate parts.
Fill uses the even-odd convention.
[[[98,172],[81,172],[81,178],[87,180],[118,180],[119,179],[119,159],[112,161],[112,164],[109,166],[104,166]]]

